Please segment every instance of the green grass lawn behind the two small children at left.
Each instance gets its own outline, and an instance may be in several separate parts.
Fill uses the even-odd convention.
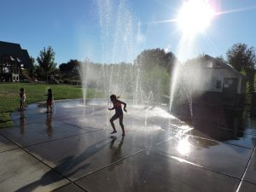
[[[47,89],[51,88],[55,100],[82,98],[82,90],[76,85],[0,83],[0,128],[14,125],[10,113],[20,108],[20,88],[26,93],[26,104],[46,100]],[[101,97],[102,91],[87,90],[86,97]]]

